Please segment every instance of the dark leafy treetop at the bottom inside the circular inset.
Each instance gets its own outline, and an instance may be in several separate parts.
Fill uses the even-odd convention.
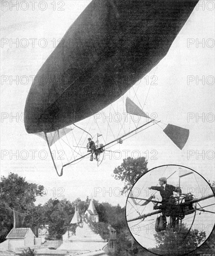
[[[158,245],[155,250],[151,249],[152,252],[158,249],[159,254],[163,255],[172,255],[173,251],[176,255],[184,255],[196,249],[205,240],[206,233],[197,229],[189,231],[188,227],[181,224],[178,232],[169,228],[154,236]]]

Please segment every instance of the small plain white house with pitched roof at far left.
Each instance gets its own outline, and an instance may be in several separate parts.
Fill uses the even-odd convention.
[[[18,247],[34,246],[35,235],[30,228],[11,229],[6,236],[8,250],[14,251]]]

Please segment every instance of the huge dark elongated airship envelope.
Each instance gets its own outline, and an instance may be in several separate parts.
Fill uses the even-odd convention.
[[[28,133],[81,121],[121,97],[168,53],[198,0],[93,0],[37,73]]]

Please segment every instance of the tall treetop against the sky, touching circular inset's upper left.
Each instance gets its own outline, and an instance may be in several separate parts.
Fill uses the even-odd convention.
[[[145,157],[123,159],[121,166],[114,169],[114,178],[125,182],[121,193],[126,193],[134,183],[146,172],[148,161]]]

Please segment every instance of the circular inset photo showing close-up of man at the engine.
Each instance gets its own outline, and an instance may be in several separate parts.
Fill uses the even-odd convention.
[[[178,165],[153,168],[132,187],[126,220],[134,239],[156,255],[186,255],[215,227],[215,184]]]

